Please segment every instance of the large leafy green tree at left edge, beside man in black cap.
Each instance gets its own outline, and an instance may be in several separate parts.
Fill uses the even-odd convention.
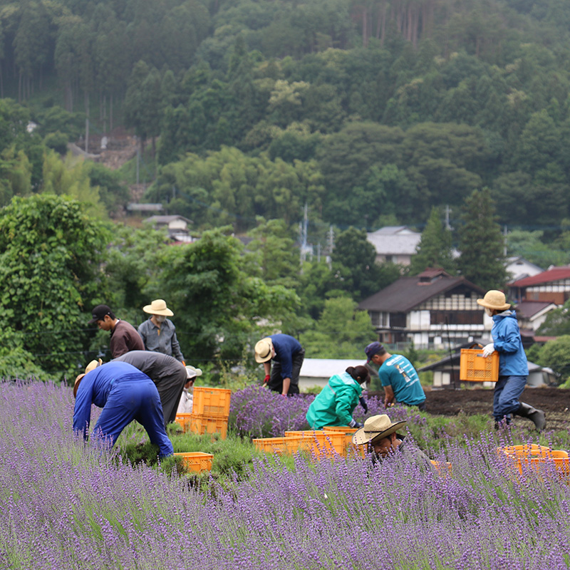
[[[0,211],[4,324],[44,371],[72,375],[83,364],[88,311],[105,290],[98,268],[107,237],[66,197],[16,197]]]

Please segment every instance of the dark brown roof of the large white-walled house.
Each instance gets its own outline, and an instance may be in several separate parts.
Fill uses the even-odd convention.
[[[425,272],[423,275],[425,275]],[[382,291],[378,291],[378,293],[361,301],[358,304],[358,309],[407,313],[415,306],[427,301],[427,299],[432,299],[432,297],[446,293],[460,285],[467,286],[467,288],[472,289],[481,296],[485,293],[484,289],[467,281],[465,277],[450,277],[445,274],[445,271],[431,281],[421,281],[420,279],[420,275],[398,279],[398,281],[388,285]]]

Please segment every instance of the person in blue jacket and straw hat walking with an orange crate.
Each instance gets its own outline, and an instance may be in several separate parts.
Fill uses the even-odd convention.
[[[534,423],[537,430],[544,430],[546,414],[532,405],[519,402],[527,384],[529,366],[527,355],[522,348],[522,338],[515,311],[510,311],[504,293],[491,289],[477,303],[493,319],[492,343],[483,348],[483,356],[489,357],[494,351],[499,353],[499,379],[494,387],[493,416],[495,427],[509,424],[511,415],[520,415]]]

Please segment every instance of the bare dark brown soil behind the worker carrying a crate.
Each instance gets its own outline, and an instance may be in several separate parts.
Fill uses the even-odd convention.
[[[380,394],[380,393],[378,393]],[[492,417],[493,390],[426,390],[427,411],[435,415],[486,414]],[[546,413],[547,430],[570,429],[570,390],[527,388],[521,400]],[[516,423],[527,422],[516,418]]]

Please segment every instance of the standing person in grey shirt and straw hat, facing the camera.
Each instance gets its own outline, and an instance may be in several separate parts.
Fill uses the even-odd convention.
[[[150,305],[142,307],[142,310],[150,314],[150,318],[138,327],[138,333],[142,337],[142,342],[145,343],[146,350],[174,356],[177,361],[185,364],[176,336],[176,327],[170,318],[167,318],[173,316],[174,313],[168,309],[166,301],[155,299]]]

